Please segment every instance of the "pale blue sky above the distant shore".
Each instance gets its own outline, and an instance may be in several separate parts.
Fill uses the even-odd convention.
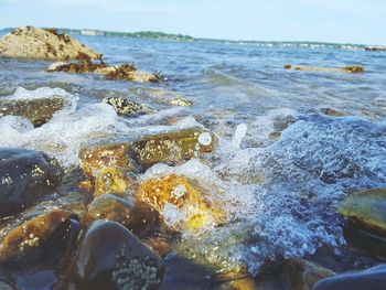
[[[0,0],[0,28],[386,45],[386,0]]]

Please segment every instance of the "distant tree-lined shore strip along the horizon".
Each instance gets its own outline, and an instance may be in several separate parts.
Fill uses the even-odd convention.
[[[15,28],[0,29],[0,34],[11,32]],[[50,28],[47,28],[50,29]],[[245,41],[245,40],[223,40],[223,39],[204,39],[194,37],[184,34],[173,34],[160,31],[139,31],[139,32],[118,32],[118,31],[103,31],[103,30],[81,30],[55,28],[58,33],[69,35],[88,35],[88,36],[116,36],[116,37],[131,37],[131,39],[151,39],[161,41],[179,41],[179,42],[218,42],[226,44],[240,45],[257,45],[257,46],[280,46],[280,47],[304,47],[304,49],[335,49],[347,51],[371,51],[371,52],[386,52],[386,45],[367,45],[355,43],[331,43],[318,41]]]

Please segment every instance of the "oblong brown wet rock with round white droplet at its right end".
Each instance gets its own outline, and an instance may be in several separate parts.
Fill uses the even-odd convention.
[[[159,162],[170,165],[181,164],[200,153],[211,152],[214,149],[214,135],[194,128],[144,136],[131,143],[132,157],[143,169]]]

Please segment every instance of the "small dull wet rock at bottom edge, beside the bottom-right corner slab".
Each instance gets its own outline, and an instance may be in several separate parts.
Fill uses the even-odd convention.
[[[285,272],[289,289],[293,290],[311,290],[319,280],[335,275],[329,269],[303,259],[288,260]]]

